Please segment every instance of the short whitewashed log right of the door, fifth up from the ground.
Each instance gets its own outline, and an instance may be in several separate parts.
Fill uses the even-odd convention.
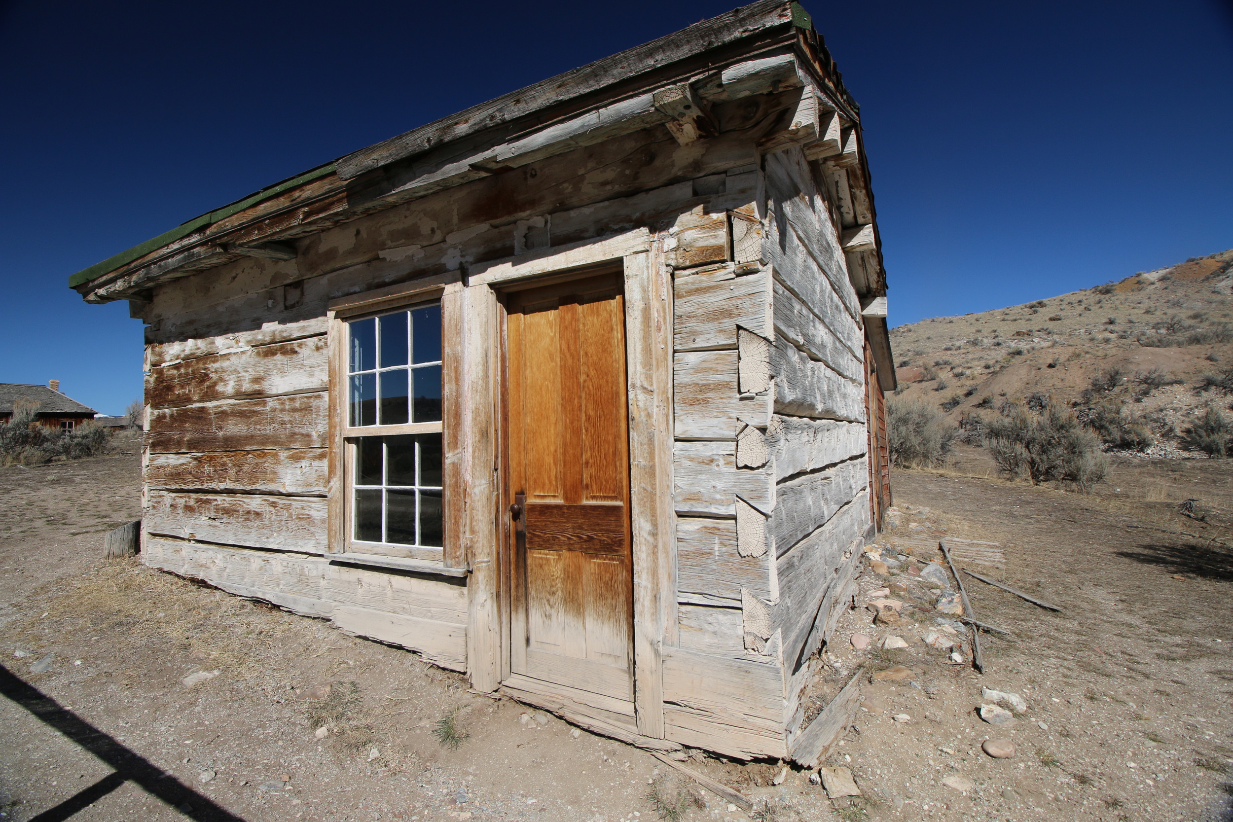
[[[766,425],[767,396],[741,397],[736,351],[682,351],[673,357],[673,394],[678,439],[735,440],[745,421]]]

